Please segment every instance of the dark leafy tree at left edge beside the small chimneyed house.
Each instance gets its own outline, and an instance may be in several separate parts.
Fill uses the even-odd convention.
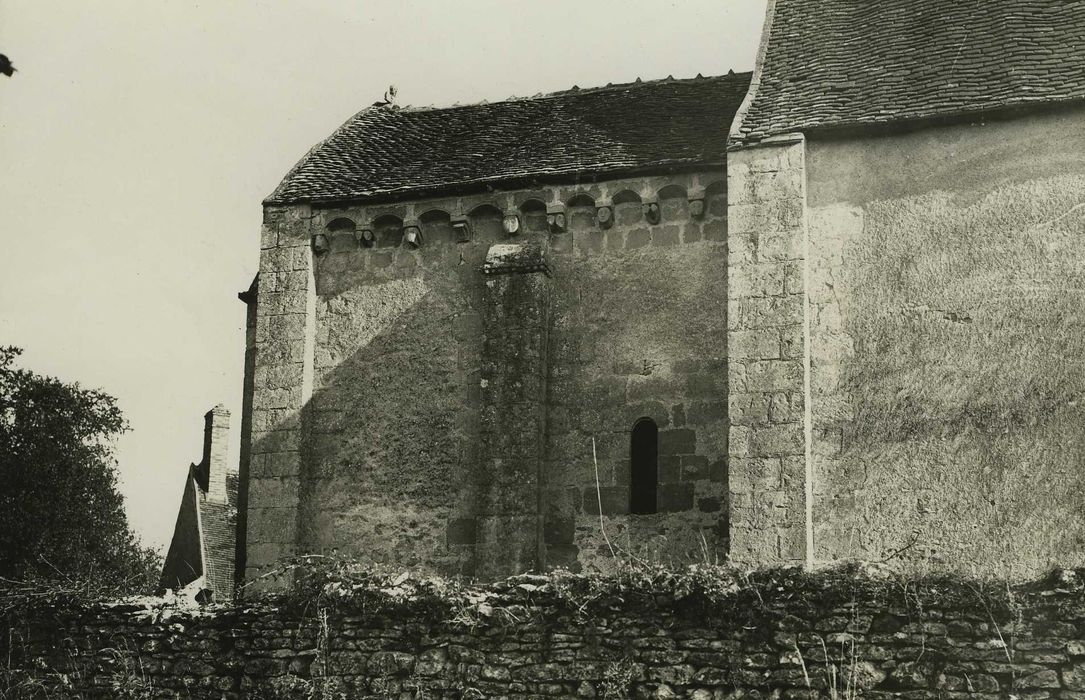
[[[0,346],[0,577],[94,594],[149,590],[161,560],[128,526],[108,394],[16,369]]]

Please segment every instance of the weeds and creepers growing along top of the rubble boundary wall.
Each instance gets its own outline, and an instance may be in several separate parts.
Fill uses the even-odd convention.
[[[858,601],[881,602],[921,616],[924,608],[972,611],[983,619],[1010,619],[1022,593],[1076,586],[1085,575],[1061,572],[1027,586],[943,575],[908,577],[876,567],[845,563],[817,571],[799,567],[744,570],[729,565],[684,568],[623,561],[614,573],[574,574],[557,570],[521,574],[493,584],[361,564],[334,557],[302,557],[280,574],[285,591],[252,595],[299,614],[331,610],[345,615],[422,616],[454,624],[502,625],[532,615],[590,618],[650,609],[697,616],[726,616],[763,624],[780,611],[791,615]]]

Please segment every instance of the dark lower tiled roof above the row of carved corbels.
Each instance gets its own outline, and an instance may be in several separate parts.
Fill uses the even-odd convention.
[[[446,109],[372,106],[310,151],[266,203],[722,163],[749,82],[742,73]]]

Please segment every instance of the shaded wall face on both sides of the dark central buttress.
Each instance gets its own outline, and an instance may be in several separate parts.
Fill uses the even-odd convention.
[[[664,187],[659,198],[643,188],[647,201],[620,191],[605,206],[571,195],[560,219],[537,193],[516,207],[521,240],[564,246],[551,251],[549,565],[609,556],[592,436],[604,518],[611,534],[637,543],[627,549],[726,557],[722,187],[713,182],[695,202],[682,187]],[[282,502],[298,550],[475,571],[475,499],[485,491],[480,268],[489,245],[508,240],[508,215],[482,204],[467,219],[433,208],[417,220],[383,215],[356,226],[341,217],[327,227],[315,258],[315,381],[302,415],[301,487]],[[629,431],[646,416],[669,447],[661,451],[658,513],[629,516]]]

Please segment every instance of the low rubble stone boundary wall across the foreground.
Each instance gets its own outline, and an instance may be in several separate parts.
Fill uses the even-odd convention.
[[[724,586],[715,602],[617,586],[576,604],[510,580],[472,598],[490,602],[379,614],[9,612],[0,697],[1085,699],[1074,572],[1027,586],[816,576]]]

